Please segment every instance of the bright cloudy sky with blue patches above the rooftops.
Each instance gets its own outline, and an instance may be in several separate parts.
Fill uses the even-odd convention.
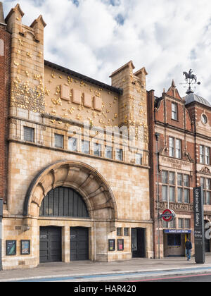
[[[1,0],[2,1],[2,0]],[[3,0],[5,16],[20,4],[23,23],[40,14],[45,59],[110,85],[128,61],[148,71],[147,90],[160,97],[172,79],[181,97],[184,71],[201,82],[195,92],[211,101],[210,0]],[[194,88],[193,88],[194,90]]]

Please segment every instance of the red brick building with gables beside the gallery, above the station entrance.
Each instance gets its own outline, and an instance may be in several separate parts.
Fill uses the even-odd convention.
[[[193,187],[203,186],[205,222],[210,221],[211,106],[191,90],[181,98],[173,81],[160,98],[148,92],[148,121],[155,257],[183,256],[186,238],[194,239]],[[176,214],[171,223],[159,218],[165,209]]]

